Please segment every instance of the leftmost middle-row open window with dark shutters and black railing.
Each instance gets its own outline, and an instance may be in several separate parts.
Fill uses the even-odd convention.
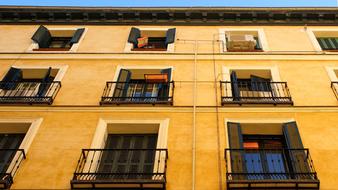
[[[0,82],[0,103],[51,104],[61,87],[59,69],[11,67]]]

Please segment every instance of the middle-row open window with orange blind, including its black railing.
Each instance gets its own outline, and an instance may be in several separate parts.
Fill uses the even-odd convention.
[[[107,82],[101,104],[172,104],[171,68],[121,69],[116,82]]]

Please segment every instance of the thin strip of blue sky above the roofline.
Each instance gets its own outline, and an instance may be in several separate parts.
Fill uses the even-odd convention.
[[[338,6],[338,0],[0,0],[0,5],[40,6]]]

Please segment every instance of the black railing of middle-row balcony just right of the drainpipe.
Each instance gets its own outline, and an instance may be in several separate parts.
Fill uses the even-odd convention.
[[[286,82],[220,82],[224,104],[293,104]]]

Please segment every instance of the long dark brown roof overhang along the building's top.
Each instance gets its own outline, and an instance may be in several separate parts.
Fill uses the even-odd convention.
[[[0,24],[337,26],[338,8],[0,6]]]

